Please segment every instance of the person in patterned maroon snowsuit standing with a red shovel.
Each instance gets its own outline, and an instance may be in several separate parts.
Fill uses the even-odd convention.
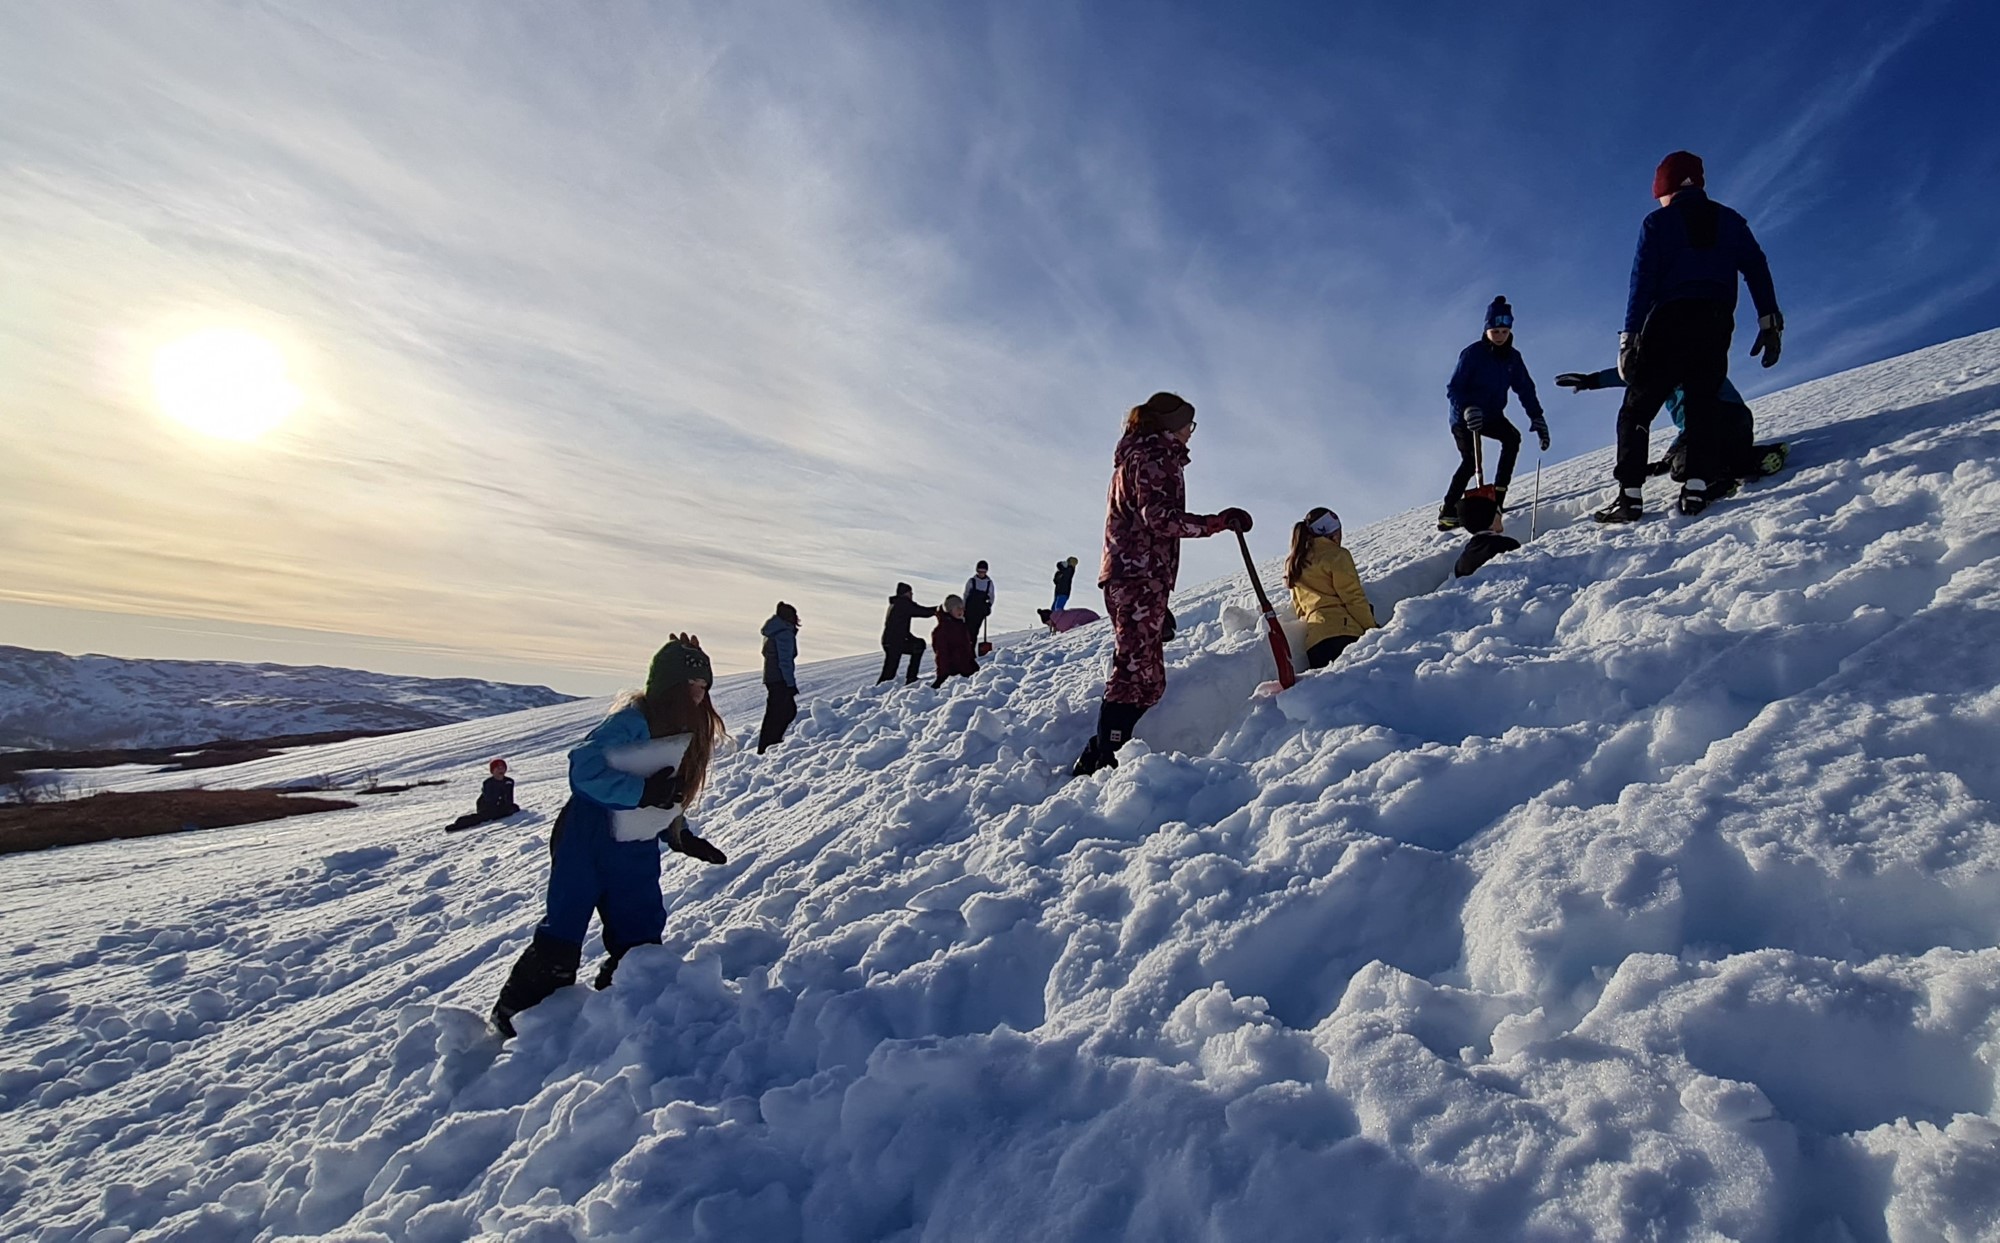
[[[1132,727],[1166,693],[1166,657],[1172,614],[1166,598],[1180,578],[1180,542],[1218,532],[1248,532],[1250,514],[1188,514],[1188,438],[1194,406],[1176,394],[1152,394],[1126,414],[1124,436],[1112,456],[1112,484],[1104,512],[1104,564],[1098,586],[1110,608],[1112,673],[1104,681],[1098,731],[1076,757],[1078,777],[1118,767],[1118,747]]]

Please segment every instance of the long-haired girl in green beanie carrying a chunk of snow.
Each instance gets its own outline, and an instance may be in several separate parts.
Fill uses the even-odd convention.
[[[686,807],[708,779],[722,717],[708,699],[714,669],[694,635],[674,635],[632,693],[570,751],[570,801],[548,837],[548,907],[514,963],[492,1025],[514,1035],[514,1015],[576,983],[590,913],[604,923],[608,987],[634,945],[658,945],[666,929],[660,845],[704,863],[726,863],[694,835]]]

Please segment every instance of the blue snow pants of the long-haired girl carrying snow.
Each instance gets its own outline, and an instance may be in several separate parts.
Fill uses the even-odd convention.
[[[610,811],[588,797],[570,797],[548,841],[548,911],[536,939],[582,945],[590,911],[604,923],[604,951],[624,957],[634,945],[658,945],[666,931],[660,897],[660,843],[618,841]]]

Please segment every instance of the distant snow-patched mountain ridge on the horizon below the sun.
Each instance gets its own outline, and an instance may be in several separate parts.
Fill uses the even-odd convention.
[[[568,699],[546,685],[476,677],[0,645],[0,747],[176,747],[218,737],[422,729]]]

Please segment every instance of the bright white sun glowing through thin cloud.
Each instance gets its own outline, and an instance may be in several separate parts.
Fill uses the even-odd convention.
[[[160,346],[152,394],[170,418],[220,440],[256,440],[304,402],[284,354],[240,328],[210,328]]]

